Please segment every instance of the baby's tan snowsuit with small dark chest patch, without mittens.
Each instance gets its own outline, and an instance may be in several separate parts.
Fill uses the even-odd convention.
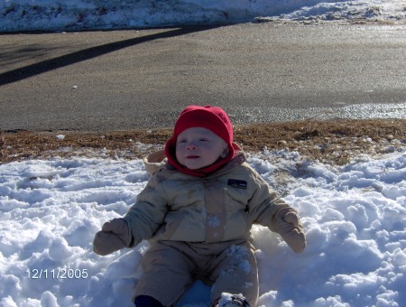
[[[150,295],[171,306],[198,278],[212,284],[212,302],[224,292],[242,293],[255,306],[258,274],[250,229],[258,223],[278,231],[273,218],[289,206],[245,163],[242,152],[203,178],[163,159],[163,151],[145,159],[152,179],[124,218],[133,237],[130,247],[152,240],[134,297]]]

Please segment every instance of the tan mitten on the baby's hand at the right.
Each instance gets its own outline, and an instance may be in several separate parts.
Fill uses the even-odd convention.
[[[306,247],[306,237],[298,211],[291,207],[279,209],[273,218],[273,224],[288,246],[300,254]]]

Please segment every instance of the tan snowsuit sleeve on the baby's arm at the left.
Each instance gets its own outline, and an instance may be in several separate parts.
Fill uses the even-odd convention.
[[[161,227],[168,210],[166,193],[161,184],[163,180],[165,178],[162,177],[161,172],[154,174],[143,191],[138,194],[134,206],[124,217],[133,236],[130,247],[136,246],[142,240],[152,238]]]

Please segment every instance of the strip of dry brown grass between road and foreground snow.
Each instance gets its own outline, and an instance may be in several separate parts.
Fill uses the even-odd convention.
[[[134,159],[161,148],[170,136],[171,129],[104,133],[0,131],[0,163],[56,156]],[[235,126],[235,143],[246,152],[298,151],[309,159],[345,164],[359,154],[381,154],[406,147],[406,120],[300,121]]]

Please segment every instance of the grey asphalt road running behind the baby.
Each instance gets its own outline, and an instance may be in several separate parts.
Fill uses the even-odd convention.
[[[406,117],[406,25],[237,24],[0,35],[0,129]]]

